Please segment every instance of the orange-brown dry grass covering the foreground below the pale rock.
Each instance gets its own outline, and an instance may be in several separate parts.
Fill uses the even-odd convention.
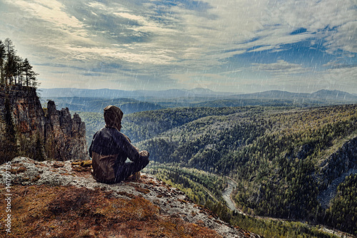
[[[6,209],[4,185],[0,210]],[[46,185],[11,187],[11,234],[8,237],[221,237],[182,219],[161,216],[159,207],[135,195]],[[4,224],[5,213],[0,222]],[[0,237],[4,236],[1,226]]]

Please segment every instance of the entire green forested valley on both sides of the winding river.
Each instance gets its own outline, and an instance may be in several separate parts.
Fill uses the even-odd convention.
[[[103,115],[77,113],[90,143]],[[304,222],[357,234],[357,105],[151,110],[124,115],[122,132],[150,152],[146,172],[227,222],[267,237],[329,237]],[[237,183],[238,209],[251,217],[226,207],[226,177]]]

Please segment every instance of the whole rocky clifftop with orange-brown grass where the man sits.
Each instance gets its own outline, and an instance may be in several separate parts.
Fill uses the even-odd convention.
[[[222,222],[152,175],[106,185],[96,182],[90,170],[91,160],[37,162],[16,157],[8,167],[1,165],[1,180],[11,172],[12,235],[259,237]],[[1,192],[1,210],[6,207],[4,196]]]

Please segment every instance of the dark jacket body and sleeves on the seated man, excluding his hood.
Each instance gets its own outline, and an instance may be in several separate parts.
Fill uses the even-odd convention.
[[[112,127],[101,128],[94,134],[89,156],[92,157],[94,179],[105,183],[114,182],[116,170],[125,163],[126,158],[133,162],[141,159],[129,138]]]

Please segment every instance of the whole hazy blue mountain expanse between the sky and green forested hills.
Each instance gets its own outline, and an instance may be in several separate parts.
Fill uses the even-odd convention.
[[[59,108],[72,111],[102,112],[106,105],[117,105],[124,113],[178,107],[236,107],[246,105],[315,106],[357,103],[357,95],[338,90],[316,93],[290,93],[269,90],[260,93],[236,94],[215,92],[204,88],[191,90],[113,90],[81,88],[44,88],[41,100],[54,100]]]

